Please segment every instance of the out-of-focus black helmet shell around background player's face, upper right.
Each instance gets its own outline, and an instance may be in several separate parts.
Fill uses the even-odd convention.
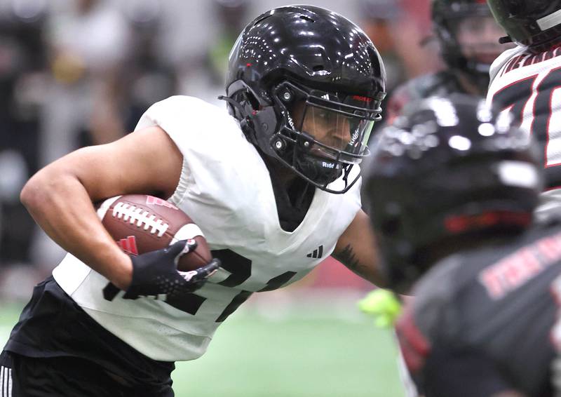
[[[433,0],[431,13],[442,60],[451,69],[466,74],[482,92],[487,92],[491,62],[466,58],[457,39],[457,26],[464,18],[492,17],[485,0]]]

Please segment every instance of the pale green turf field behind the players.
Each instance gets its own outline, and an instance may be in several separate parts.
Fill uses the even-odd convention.
[[[0,341],[19,310],[0,306]],[[177,363],[174,389],[178,397],[401,397],[395,351],[370,318],[291,309],[271,319],[250,308],[219,328],[205,356]]]

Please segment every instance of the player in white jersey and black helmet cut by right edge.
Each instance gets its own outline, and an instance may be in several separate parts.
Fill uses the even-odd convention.
[[[489,7],[517,47],[491,68],[487,101],[511,112],[536,137],[545,154],[546,192],[540,217],[561,211],[561,0],[489,0]]]

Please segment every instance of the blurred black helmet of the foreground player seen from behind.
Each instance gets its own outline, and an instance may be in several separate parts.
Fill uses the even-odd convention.
[[[412,102],[377,138],[365,194],[391,288],[409,290],[433,264],[431,248],[531,222],[543,185],[539,151],[480,98]]]

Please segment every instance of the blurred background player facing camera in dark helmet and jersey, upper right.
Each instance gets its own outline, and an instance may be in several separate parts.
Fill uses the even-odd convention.
[[[451,93],[487,93],[489,67],[503,51],[497,40],[504,32],[485,1],[433,0],[431,18],[446,69],[419,76],[396,88],[388,98],[389,123],[412,100]]]

